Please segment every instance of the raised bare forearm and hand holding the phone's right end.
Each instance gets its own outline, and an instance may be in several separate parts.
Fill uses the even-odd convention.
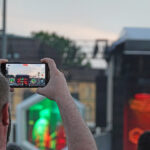
[[[97,150],[94,138],[84,123],[70,95],[64,75],[50,58],[41,60],[50,69],[50,81],[37,92],[58,104],[66,131],[69,150]]]

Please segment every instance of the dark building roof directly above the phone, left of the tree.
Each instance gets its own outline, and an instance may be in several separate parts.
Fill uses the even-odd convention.
[[[0,37],[0,57],[2,52],[2,38]],[[7,36],[7,58],[16,62],[39,62],[43,57],[53,58],[57,65],[61,64],[58,52],[38,40],[15,35]]]

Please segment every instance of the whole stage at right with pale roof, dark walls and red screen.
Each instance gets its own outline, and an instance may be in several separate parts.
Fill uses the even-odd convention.
[[[105,89],[98,92],[97,126],[111,133],[111,150],[136,150],[139,136],[150,130],[150,28],[125,28],[104,56],[107,80],[97,83]]]

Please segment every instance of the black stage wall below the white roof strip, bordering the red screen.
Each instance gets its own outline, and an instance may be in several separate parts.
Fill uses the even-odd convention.
[[[136,93],[150,93],[149,60],[150,56],[115,56],[112,150],[123,149],[125,103]]]

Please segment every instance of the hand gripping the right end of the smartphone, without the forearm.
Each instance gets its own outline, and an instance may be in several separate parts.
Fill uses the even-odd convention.
[[[38,88],[37,93],[53,99],[56,102],[64,99],[66,96],[70,96],[70,92],[67,86],[64,75],[60,72],[53,59],[44,58],[41,59],[42,63],[47,63],[50,70],[50,80],[44,88]]]

